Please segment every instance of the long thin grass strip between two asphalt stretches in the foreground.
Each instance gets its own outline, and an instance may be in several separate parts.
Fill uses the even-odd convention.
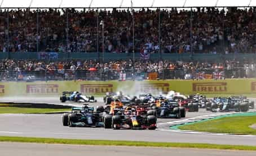
[[[53,139],[37,137],[0,136],[0,141],[34,142],[43,144],[72,144],[72,145],[109,145],[109,146],[147,146],[159,148],[199,148],[199,149],[227,149],[227,150],[256,150],[256,146],[191,144],[178,142],[145,142],[145,141],[113,141],[113,140],[75,140]]]

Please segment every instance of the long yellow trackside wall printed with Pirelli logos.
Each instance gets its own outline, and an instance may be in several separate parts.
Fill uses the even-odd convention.
[[[55,96],[62,91],[80,91],[87,95],[104,95],[122,91],[130,95],[139,93],[165,93],[175,90],[192,93],[256,93],[256,79],[226,80],[166,80],[166,81],[48,81],[0,82],[0,96]]]

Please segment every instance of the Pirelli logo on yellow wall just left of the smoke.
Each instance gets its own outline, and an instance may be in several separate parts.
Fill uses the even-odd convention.
[[[82,93],[113,92],[113,84],[81,84]]]

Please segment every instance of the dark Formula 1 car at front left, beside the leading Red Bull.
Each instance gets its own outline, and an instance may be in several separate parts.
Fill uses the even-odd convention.
[[[102,113],[103,106],[100,106],[94,112],[93,107],[87,104],[82,107],[72,108],[71,113],[64,113],[62,117],[63,126],[69,127],[103,127]]]

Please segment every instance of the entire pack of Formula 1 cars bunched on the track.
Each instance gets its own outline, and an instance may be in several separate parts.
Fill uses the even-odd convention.
[[[96,102],[94,96],[74,91],[63,92],[60,101]],[[96,109],[88,104],[72,108],[70,113],[63,114],[63,126],[155,130],[157,118],[185,118],[186,112],[198,112],[199,108],[211,112],[246,112],[254,108],[254,102],[244,96],[207,99],[200,94],[185,96],[174,91],[167,95],[147,93],[132,98],[122,92],[106,93],[103,101],[105,105]]]

